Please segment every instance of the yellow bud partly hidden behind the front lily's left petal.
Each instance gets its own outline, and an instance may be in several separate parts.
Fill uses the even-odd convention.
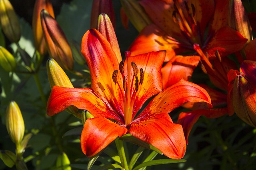
[[[46,69],[51,88],[53,86],[74,88],[67,74],[64,72],[64,70],[62,70],[62,68],[54,59],[48,59],[46,63]],[[69,106],[66,111],[78,118],[81,117],[81,115],[78,113],[78,108],[75,106]]]

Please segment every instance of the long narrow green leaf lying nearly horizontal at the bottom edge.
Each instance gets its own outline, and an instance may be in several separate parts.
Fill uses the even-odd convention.
[[[186,162],[185,159],[158,159],[158,160],[150,160],[148,162],[144,162],[138,166],[136,166],[133,170],[139,170],[145,166],[152,166],[152,165],[160,165],[160,164],[173,164],[173,163],[180,163]]]

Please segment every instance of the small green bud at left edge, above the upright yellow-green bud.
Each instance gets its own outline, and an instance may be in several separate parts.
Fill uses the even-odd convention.
[[[0,46],[0,64],[8,72],[16,68],[16,60],[13,55],[2,46]]]

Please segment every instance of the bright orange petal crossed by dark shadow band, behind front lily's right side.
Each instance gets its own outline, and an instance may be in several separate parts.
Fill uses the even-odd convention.
[[[181,55],[178,55],[169,61],[161,69],[164,89],[172,86],[182,78],[184,80],[189,80],[199,61],[199,56],[184,57]]]

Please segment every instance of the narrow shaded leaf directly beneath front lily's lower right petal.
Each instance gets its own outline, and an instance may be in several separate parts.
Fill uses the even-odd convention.
[[[131,134],[123,135],[119,139],[122,141],[134,143],[134,144],[144,147],[146,149],[154,150],[154,151],[158,152],[159,154],[162,154],[162,152],[160,150],[156,149],[155,147],[153,147],[152,145],[150,145],[148,143],[141,141],[140,139],[137,139],[136,137],[133,137]]]

